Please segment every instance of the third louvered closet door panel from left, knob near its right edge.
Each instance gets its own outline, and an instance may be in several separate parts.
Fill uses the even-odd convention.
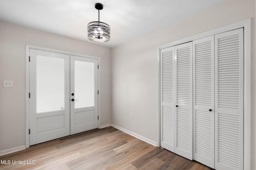
[[[214,168],[214,35],[193,41],[193,159]]]

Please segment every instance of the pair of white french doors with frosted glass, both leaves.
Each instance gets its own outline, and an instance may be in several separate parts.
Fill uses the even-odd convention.
[[[98,128],[98,60],[30,49],[30,145]]]

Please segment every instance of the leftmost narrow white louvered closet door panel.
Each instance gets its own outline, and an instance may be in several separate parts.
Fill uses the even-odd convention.
[[[160,51],[161,147],[174,152],[174,47]]]

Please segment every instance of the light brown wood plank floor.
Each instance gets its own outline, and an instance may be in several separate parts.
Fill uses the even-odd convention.
[[[6,164],[0,164],[0,170],[211,170],[114,127],[34,145],[26,150],[0,156],[0,160],[6,161]],[[26,164],[12,164],[14,160],[25,160]]]

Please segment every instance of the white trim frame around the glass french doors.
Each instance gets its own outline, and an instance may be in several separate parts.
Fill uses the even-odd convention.
[[[100,57],[93,57],[89,55],[83,55],[83,54],[78,54],[78,53],[72,53],[68,51],[61,51],[61,50],[55,50],[55,49],[49,49],[49,48],[44,48],[44,47],[38,47],[34,45],[26,45],[26,83],[25,83],[25,105],[26,105],[26,114],[25,114],[25,142],[26,142],[26,148],[29,148],[30,142],[29,142],[29,91],[30,91],[30,86],[29,86],[29,49],[37,49],[37,50],[44,50],[44,51],[50,51],[54,53],[62,53],[66,55],[75,55],[75,56],[80,56],[80,57],[87,57],[91,59],[97,59],[98,60],[98,128],[100,128]]]

